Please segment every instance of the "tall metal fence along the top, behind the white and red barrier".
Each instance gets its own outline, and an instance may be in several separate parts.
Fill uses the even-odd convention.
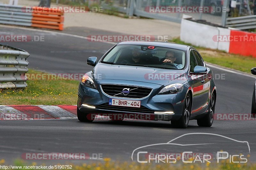
[[[230,8],[231,0],[105,0],[102,6],[103,8],[114,7],[130,16],[136,15],[178,23],[181,22],[183,14],[186,14],[196,20],[205,20],[216,25],[226,26],[228,17],[252,14],[249,0],[233,1],[236,1],[234,8]],[[188,11],[189,8],[195,9],[195,7],[198,7],[198,10],[200,8],[201,12]],[[167,8],[172,10],[161,11],[161,9]]]

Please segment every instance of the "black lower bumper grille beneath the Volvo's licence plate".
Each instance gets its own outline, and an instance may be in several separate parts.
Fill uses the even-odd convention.
[[[132,108],[132,107],[123,107],[123,106],[111,106],[111,105],[108,105],[108,103],[104,103],[104,104],[96,106],[96,109],[113,110],[113,111],[120,111],[120,112],[154,114],[154,110],[150,110],[144,106],[140,106],[140,108]]]

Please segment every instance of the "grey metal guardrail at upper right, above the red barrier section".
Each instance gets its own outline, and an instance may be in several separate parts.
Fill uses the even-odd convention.
[[[227,18],[227,26],[240,30],[256,28],[256,15]]]

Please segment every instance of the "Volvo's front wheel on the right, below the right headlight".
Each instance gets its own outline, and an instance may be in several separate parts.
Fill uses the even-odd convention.
[[[191,96],[188,93],[184,100],[182,116],[180,117],[179,120],[171,120],[172,127],[187,128],[190,115],[191,115]]]

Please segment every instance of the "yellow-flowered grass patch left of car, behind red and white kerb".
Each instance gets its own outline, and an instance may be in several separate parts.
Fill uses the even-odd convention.
[[[29,69],[29,74],[42,72]],[[79,81],[28,80],[24,89],[0,89],[0,105],[76,104]]]

